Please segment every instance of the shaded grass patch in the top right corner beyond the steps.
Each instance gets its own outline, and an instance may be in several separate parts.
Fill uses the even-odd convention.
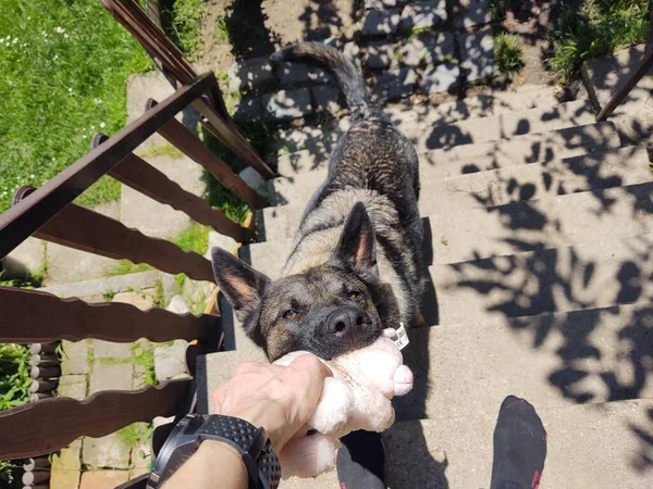
[[[582,62],[614,52],[646,38],[648,0],[586,0],[563,7],[552,34],[547,64],[564,84],[571,82]]]

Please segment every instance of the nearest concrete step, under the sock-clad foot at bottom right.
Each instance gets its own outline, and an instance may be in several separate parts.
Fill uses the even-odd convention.
[[[508,394],[509,392],[506,392]],[[396,423],[384,434],[386,484],[393,489],[490,487],[493,414]],[[540,489],[651,487],[652,401],[540,409],[549,436]],[[334,488],[305,481],[295,488]]]

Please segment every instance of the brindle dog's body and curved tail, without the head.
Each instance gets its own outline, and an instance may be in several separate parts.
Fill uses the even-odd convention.
[[[377,235],[380,275],[393,289],[398,319],[410,322],[421,296],[423,235],[412,145],[371,103],[362,76],[342,52],[306,42],[279,51],[273,60],[330,72],[352,111],[352,127],[337,142],[329,176],[305,211],[284,275],[324,263],[337,246],[347,215],[362,202]]]

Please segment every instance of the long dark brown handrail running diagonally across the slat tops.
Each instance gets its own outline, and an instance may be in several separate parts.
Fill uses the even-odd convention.
[[[28,199],[0,215],[0,258],[4,258],[34,231],[75,200],[102,175],[115,166],[165,122],[215,84],[212,74],[181,88],[162,103],[147,111],[106,143],[94,149],[61,172]]]

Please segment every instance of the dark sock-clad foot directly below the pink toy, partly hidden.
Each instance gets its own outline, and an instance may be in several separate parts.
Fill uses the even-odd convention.
[[[341,439],[337,451],[337,479],[341,489],[385,489],[385,449],[381,435],[354,431]]]

